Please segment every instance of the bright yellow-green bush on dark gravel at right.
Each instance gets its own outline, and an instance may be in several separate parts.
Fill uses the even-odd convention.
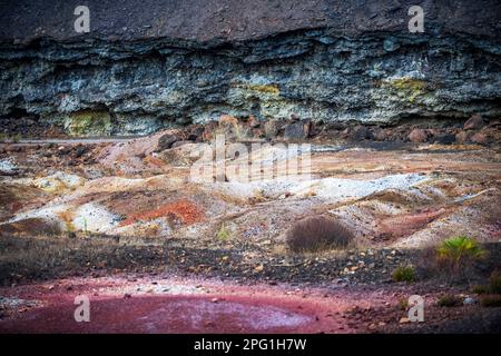
[[[468,236],[458,236],[446,239],[436,249],[439,260],[445,263],[451,271],[459,271],[472,261],[484,256],[484,249],[474,239]]]

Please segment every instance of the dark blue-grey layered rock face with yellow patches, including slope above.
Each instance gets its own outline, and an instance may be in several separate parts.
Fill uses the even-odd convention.
[[[3,120],[95,136],[222,115],[395,123],[501,113],[495,0],[425,1],[424,33],[407,30],[412,1],[87,2],[84,34],[71,1],[0,6]]]

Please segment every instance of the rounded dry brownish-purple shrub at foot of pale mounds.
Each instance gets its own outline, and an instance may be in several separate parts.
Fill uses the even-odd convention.
[[[286,234],[287,247],[296,253],[346,247],[352,239],[345,226],[322,216],[299,220]]]

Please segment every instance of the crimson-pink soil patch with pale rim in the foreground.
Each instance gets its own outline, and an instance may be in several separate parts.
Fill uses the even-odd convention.
[[[102,281],[71,280],[56,287],[21,286],[8,295],[36,299],[41,307],[23,309],[0,319],[2,333],[353,333],[336,310],[345,306],[335,299],[305,299],[279,287],[235,285],[209,286],[205,291],[183,295],[141,294],[124,297],[134,284],[114,279],[110,289]],[[149,281],[150,283],[150,281]],[[175,284],[175,283],[174,283]],[[194,285],[191,285],[193,287]],[[102,291],[105,287],[106,291]],[[101,290],[96,293],[96,290]],[[90,322],[77,323],[77,295],[90,299]]]

